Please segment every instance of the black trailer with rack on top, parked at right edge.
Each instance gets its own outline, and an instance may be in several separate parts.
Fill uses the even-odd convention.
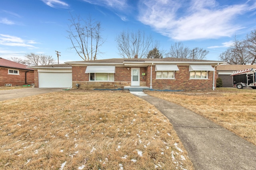
[[[248,68],[245,70],[234,71],[230,76],[233,76],[233,87],[239,89],[250,87],[256,89],[256,70]]]

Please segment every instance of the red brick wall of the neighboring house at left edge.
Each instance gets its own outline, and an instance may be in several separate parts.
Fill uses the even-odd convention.
[[[34,71],[30,70],[27,73],[26,71],[27,70],[19,70],[19,75],[8,74],[8,68],[0,67],[0,86],[4,86],[4,84],[12,84],[12,86],[22,86],[34,83]],[[27,76],[27,84],[25,80],[25,73]]]

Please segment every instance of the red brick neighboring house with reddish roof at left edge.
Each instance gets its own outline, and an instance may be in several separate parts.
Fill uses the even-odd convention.
[[[34,84],[34,69],[0,57],[0,86]]]

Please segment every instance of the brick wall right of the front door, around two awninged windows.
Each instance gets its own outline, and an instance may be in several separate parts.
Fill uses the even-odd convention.
[[[152,66],[152,88],[159,90],[212,90],[213,71],[208,72],[207,80],[190,79],[189,66],[178,66],[175,71],[175,80],[156,79],[155,66]],[[150,66],[147,68],[147,83],[150,87]],[[217,75],[215,74],[215,85]]]

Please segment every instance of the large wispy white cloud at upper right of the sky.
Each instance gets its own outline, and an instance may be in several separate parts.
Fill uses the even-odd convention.
[[[216,39],[242,29],[233,20],[255,10],[255,4],[219,6],[215,0],[141,0],[138,20],[178,41]]]

